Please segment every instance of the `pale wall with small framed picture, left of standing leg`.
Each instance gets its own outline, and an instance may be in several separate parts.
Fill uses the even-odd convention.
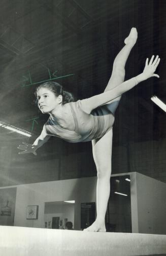
[[[80,229],[80,203],[96,201],[96,177],[18,185],[15,226],[44,227],[45,202],[75,200],[75,229]],[[5,187],[3,187],[5,188]],[[26,219],[26,207],[39,206],[37,220]]]

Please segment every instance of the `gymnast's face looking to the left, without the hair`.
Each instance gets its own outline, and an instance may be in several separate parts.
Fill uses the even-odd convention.
[[[37,94],[38,107],[43,114],[52,113],[61,104],[61,95],[58,97],[49,89],[41,88]]]

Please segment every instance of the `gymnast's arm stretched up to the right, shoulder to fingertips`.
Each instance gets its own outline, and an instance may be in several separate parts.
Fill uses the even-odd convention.
[[[153,58],[154,56],[152,56],[149,64],[148,59],[146,60],[143,73],[137,75],[135,78],[131,78],[123,82],[122,84],[118,85],[110,91],[106,91],[104,93],[82,100],[82,109],[87,113],[91,113],[93,109],[109,103],[110,100],[117,98],[124,92],[141,83],[142,81],[145,81],[152,76],[156,76],[157,78],[159,78],[159,75],[155,74],[154,72],[159,64],[160,59],[158,58],[158,56],[156,56],[155,60],[153,61]]]

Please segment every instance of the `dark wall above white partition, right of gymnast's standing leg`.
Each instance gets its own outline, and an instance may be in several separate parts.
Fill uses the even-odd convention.
[[[127,147],[113,148],[112,173],[136,171],[166,182],[165,139],[129,143]]]

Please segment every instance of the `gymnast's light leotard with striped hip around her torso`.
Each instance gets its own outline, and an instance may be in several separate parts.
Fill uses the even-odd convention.
[[[67,107],[71,108],[72,118],[75,122],[74,131],[63,129],[52,117],[49,117],[45,123],[47,134],[72,143],[103,137],[113,126],[114,112],[118,106],[118,101],[98,107],[90,114],[83,110],[84,104],[86,104],[86,99],[67,103]]]

